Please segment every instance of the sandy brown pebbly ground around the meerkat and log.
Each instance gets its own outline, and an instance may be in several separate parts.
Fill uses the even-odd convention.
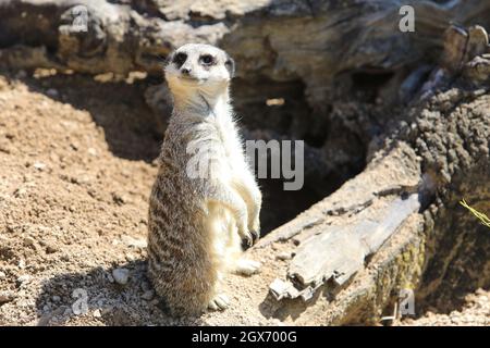
[[[194,320],[166,315],[145,275],[161,135],[137,86],[22,79],[0,74],[0,325],[279,323],[258,308],[258,319],[244,318],[246,303]],[[271,274],[235,282],[232,303],[235,291],[262,296]],[[478,290],[450,314],[396,324],[489,322],[490,293]]]

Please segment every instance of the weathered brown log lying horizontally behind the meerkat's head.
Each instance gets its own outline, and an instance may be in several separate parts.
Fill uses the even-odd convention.
[[[335,95],[332,79],[339,73],[393,71],[426,52],[438,57],[450,22],[485,25],[490,11],[478,0],[407,1],[416,13],[413,35],[399,29],[400,4],[390,0],[185,3],[3,0],[0,62],[17,69],[161,75],[171,49],[205,41],[230,51],[238,76],[247,80],[303,80],[310,104],[321,111],[324,99]],[[81,9],[85,28],[74,25]]]

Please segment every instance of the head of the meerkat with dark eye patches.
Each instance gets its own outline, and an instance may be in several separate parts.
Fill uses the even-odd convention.
[[[216,96],[228,90],[234,75],[233,59],[223,50],[204,44],[186,44],[172,52],[166,78],[174,97],[203,92]]]

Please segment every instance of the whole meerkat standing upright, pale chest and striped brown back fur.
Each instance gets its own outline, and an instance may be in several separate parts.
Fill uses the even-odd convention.
[[[233,120],[229,85],[233,60],[188,44],[166,66],[174,99],[148,217],[148,274],[173,314],[225,309],[228,272],[253,274],[242,239],[259,236],[260,190]]]

